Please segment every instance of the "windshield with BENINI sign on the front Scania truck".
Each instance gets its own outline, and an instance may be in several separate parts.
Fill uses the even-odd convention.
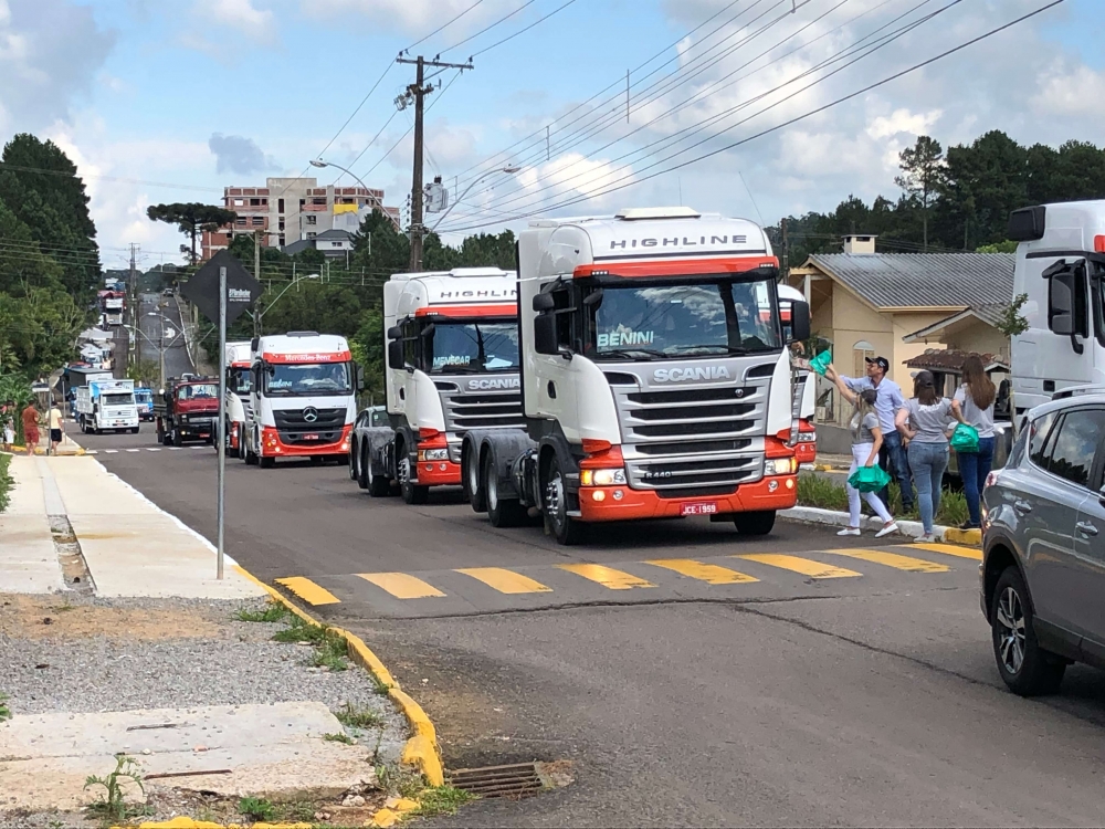
[[[704,354],[749,354],[782,347],[770,280],[722,276],[693,283],[606,285],[585,300],[586,354],[597,359],[662,359]]]

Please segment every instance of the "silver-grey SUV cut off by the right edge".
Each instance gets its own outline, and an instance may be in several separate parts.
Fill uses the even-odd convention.
[[[1032,409],[983,492],[982,612],[1001,679],[1054,693],[1066,667],[1105,668],[1105,393]]]

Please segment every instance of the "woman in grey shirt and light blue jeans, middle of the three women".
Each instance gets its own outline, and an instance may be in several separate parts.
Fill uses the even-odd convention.
[[[936,393],[932,371],[918,371],[913,380],[913,397],[905,401],[894,423],[908,441],[906,453],[924,528],[919,542],[935,541],[933,522],[940,511],[944,473],[948,469],[948,422],[953,418],[962,422],[959,403]]]

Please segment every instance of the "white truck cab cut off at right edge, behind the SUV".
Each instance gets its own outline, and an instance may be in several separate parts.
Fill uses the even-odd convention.
[[[1064,389],[1105,386],[1105,200],[1014,210],[1013,296],[1028,328],[1011,338],[1014,423]]]

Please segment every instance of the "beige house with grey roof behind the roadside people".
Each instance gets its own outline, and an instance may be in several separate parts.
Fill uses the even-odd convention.
[[[939,346],[1003,356],[1008,338],[996,327],[1012,300],[1011,253],[881,253],[875,237],[844,238],[843,253],[817,253],[793,267],[789,282],[810,303],[814,334],[832,343],[833,363],[864,374],[867,357],[886,357],[890,377],[908,393],[912,360]],[[836,411],[832,396],[827,409]]]

